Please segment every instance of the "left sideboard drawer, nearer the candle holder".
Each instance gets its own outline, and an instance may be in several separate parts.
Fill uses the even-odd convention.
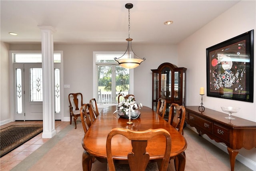
[[[194,124],[198,125],[203,130],[205,130],[207,132],[210,132],[210,133],[213,133],[213,131],[212,131],[213,123],[211,121],[203,119],[202,117],[194,115],[193,113],[189,114],[189,121],[191,123],[194,123]]]

